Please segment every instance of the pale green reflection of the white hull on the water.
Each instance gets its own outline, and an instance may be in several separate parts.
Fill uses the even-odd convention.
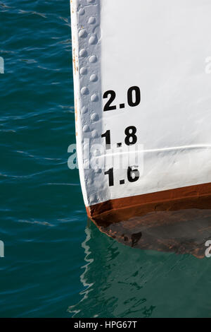
[[[84,290],[82,299],[68,309],[72,316],[210,316],[209,259],[127,247],[93,223],[85,232]]]

